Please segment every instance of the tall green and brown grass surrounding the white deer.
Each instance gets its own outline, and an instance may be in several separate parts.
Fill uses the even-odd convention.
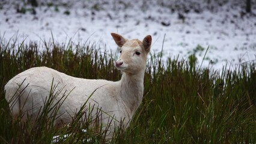
[[[40,49],[40,50],[39,50]],[[11,119],[4,85],[31,67],[46,66],[71,76],[119,80],[115,53],[86,44],[55,42],[25,45],[1,41],[0,143],[51,143],[52,137],[71,134],[59,143],[105,143],[103,133],[82,127],[76,119],[61,128],[41,115],[36,123]],[[221,74],[198,68],[195,61],[161,61],[151,53],[144,78],[144,98],[123,133],[112,143],[256,143],[256,65],[241,65]],[[47,111],[46,111],[47,112]],[[90,139],[90,140],[85,140]]]

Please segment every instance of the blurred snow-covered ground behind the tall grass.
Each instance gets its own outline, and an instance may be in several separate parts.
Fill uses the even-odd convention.
[[[150,34],[151,52],[158,53],[163,47],[164,58],[187,59],[195,53],[201,64],[209,47],[203,64],[206,67],[210,64],[221,69],[228,64],[236,68],[256,62],[255,8],[252,14],[245,14],[242,6],[232,4],[212,10],[203,6],[181,10],[165,1],[113,0],[71,1],[66,5],[48,2],[33,11],[28,5],[14,3],[1,5],[0,39],[43,43],[51,41],[53,35],[60,44],[71,38],[75,44],[96,44],[115,52],[111,32],[140,40]],[[26,13],[17,13],[22,7]]]

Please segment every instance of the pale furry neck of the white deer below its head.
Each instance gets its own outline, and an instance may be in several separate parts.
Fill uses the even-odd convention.
[[[124,105],[133,113],[138,109],[141,104],[143,91],[144,91],[144,71],[137,74],[123,73],[121,77],[121,97],[123,98]]]

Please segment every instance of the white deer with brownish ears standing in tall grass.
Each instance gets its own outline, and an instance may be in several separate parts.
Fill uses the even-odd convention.
[[[144,73],[147,54],[151,47],[151,36],[147,35],[143,41],[139,41],[138,39],[127,40],[114,33],[111,35],[120,47],[121,55],[115,62],[115,67],[123,71],[120,81],[81,79],[60,73],[52,68],[30,68],[17,74],[5,85],[5,98],[9,102],[13,117],[16,118],[20,112],[26,113],[23,115],[23,121],[26,121],[28,116],[32,118],[38,116],[49,97],[53,81],[53,85],[59,92],[56,100],[70,92],[56,113],[55,124],[71,122],[72,116],[75,116],[75,113],[87,102],[90,106],[94,105],[104,112],[102,124],[107,124],[109,119],[105,118],[112,116],[117,120],[115,124],[123,120],[122,125],[128,126],[142,101]],[[109,133],[109,137],[112,134],[113,131]]]

